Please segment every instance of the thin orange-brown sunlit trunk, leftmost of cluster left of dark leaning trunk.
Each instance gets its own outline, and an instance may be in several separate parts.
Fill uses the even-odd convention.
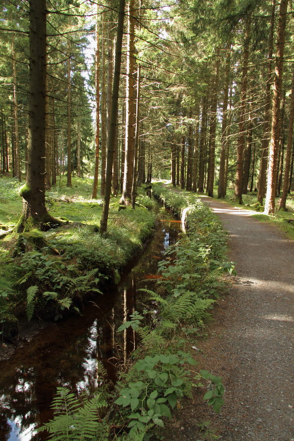
[[[97,14],[99,6],[97,5]],[[98,17],[98,15],[97,15]],[[99,31],[98,18],[96,19],[96,52],[95,52],[95,95],[96,95],[96,135],[95,135],[95,168],[93,178],[92,199],[97,199],[98,171],[99,171]],[[102,36],[103,38],[103,36]],[[78,161],[79,162],[79,161]]]

